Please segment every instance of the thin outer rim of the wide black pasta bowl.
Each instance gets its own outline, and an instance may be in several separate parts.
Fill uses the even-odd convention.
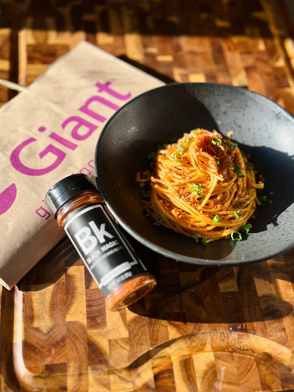
[[[163,86],[159,86],[156,87],[154,89],[151,90],[147,90],[144,91],[143,93],[135,96],[134,98],[132,98],[131,100],[127,101],[126,103],[124,103],[105,123],[105,125],[102,128],[102,131],[100,132],[98,141],[96,143],[96,148],[95,148],[95,156],[94,156],[94,172],[95,172],[95,178],[96,178],[96,184],[98,186],[98,190],[104,200],[104,204],[106,209],[109,211],[109,213],[113,216],[113,219],[117,220],[118,223],[122,226],[122,228],[124,230],[126,230],[135,240],[139,241],[142,245],[146,246],[147,248],[153,250],[154,252],[160,253],[165,257],[168,258],[172,258],[173,260],[176,261],[182,261],[184,263],[190,263],[190,264],[195,264],[195,265],[207,265],[207,266],[217,266],[217,267],[221,267],[221,266],[227,266],[227,265],[242,265],[242,264],[249,264],[249,263],[257,263],[259,261],[265,261],[265,260],[269,260],[270,258],[276,257],[278,255],[281,255],[285,252],[287,252],[288,250],[292,249],[294,247],[294,238],[292,243],[290,243],[287,247],[284,247],[282,250],[277,250],[276,252],[272,252],[270,255],[261,255],[255,258],[250,258],[250,259],[238,259],[238,260],[211,260],[211,259],[200,259],[200,258],[196,258],[196,257],[190,257],[190,256],[183,256],[182,254],[178,254],[175,252],[172,252],[171,250],[167,250],[163,247],[161,247],[160,245],[157,245],[155,243],[153,243],[152,241],[146,240],[141,234],[139,234],[136,230],[132,229],[131,226],[129,226],[122,218],[120,218],[120,216],[118,215],[118,213],[113,209],[113,207],[111,207],[111,204],[109,203],[109,201],[107,200],[107,198],[104,195],[103,189],[99,183],[99,178],[98,178],[98,171],[97,171],[97,155],[98,155],[98,149],[99,149],[99,145],[100,142],[105,134],[105,132],[107,131],[107,127],[109,126],[109,123],[111,123],[111,121],[113,120],[113,118],[120,112],[122,111],[127,105],[131,104],[133,101],[137,100],[138,98],[149,94],[153,91],[157,91],[160,89],[165,89],[167,87],[174,87],[174,86],[198,86],[198,85],[207,85],[209,86],[213,86],[213,85],[220,85],[223,86],[225,88],[228,89],[233,89],[233,90],[239,90],[242,91],[244,94],[249,94],[250,96],[259,96],[261,100],[265,100],[265,101],[269,101],[270,105],[274,105],[277,106],[279,108],[279,110],[281,110],[284,114],[286,114],[287,116],[289,116],[289,118],[292,120],[292,122],[294,123],[294,116],[292,116],[292,114],[290,114],[286,109],[284,109],[283,107],[281,107],[280,105],[278,105],[278,103],[274,102],[273,100],[271,100],[270,98],[256,93],[255,91],[251,91],[247,88],[244,87],[238,87],[238,86],[232,86],[232,85],[227,85],[227,84],[222,84],[222,83],[206,83],[206,82],[196,82],[196,83],[191,83],[191,82],[187,82],[187,83],[179,83],[179,82],[174,82],[174,83],[167,83]]]

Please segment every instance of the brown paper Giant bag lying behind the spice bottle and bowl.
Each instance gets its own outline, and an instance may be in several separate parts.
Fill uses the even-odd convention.
[[[0,283],[12,288],[64,237],[44,202],[58,180],[85,173],[107,119],[163,85],[80,42],[0,109]]]

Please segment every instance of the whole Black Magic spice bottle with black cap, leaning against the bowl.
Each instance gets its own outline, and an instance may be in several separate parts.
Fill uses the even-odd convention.
[[[45,201],[97,283],[109,310],[135,303],[156,285],[103,206],[85,174],[73,174],[49,189]]]

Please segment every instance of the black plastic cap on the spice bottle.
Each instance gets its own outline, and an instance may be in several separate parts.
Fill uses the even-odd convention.
[[[86,174],[73,174],[56,182],[56,184],[46,193],[45,202],[55,216],[56,211],[66,203],[67,200],[80,192],[89,191],[91,189],[98,192],[97,188]]]

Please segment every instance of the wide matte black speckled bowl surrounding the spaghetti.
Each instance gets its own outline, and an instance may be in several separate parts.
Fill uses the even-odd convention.
[[[250,161],[265,170],[268,204],[250,220],[242,241],[206,247],[154,225],[143,215],[136,172],[149,169],[158,143],[196,127],[231,137]],[[212,83],[173,83],[126,103],[107,122],[97,143],[95,173],[107,208],[136,240],[170,258],[202,265],[266,260],[294,247],[294,118],[276,103],[247,89]],[[120,186],[118,185],[120,184]],[[273,194],[272,194],[273,192]]]

